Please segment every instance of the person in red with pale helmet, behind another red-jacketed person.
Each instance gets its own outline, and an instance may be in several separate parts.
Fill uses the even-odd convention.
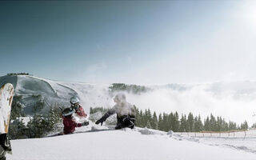
[[[83,110],[82,106],[80,105],[80,100],[76,97],[70,98],[71,108],[74,109],[74,113],[78,115],[78,118],[86,118],[87,114],[85,110]]]

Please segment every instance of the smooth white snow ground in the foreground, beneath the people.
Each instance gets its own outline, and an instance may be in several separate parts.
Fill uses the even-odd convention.
[[[171,133],[171,134],[170,134]],[[74,134],[48,138],[12,140],[13,154],[9,160],[255,160],[246,144],[255,140],[189,138],[159,130],[136,127],[134,130],[113,130],[113,126],[77,128]],[[235,148],[231,142],[239,142]],[[241,144],[242,143],[242,144]],[[217,145],[216,145],[217,144]]]

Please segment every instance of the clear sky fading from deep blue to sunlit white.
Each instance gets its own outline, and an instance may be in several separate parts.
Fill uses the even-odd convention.
[[[0,75],[137,84],[255,80],[254,1],[0,2]]]

